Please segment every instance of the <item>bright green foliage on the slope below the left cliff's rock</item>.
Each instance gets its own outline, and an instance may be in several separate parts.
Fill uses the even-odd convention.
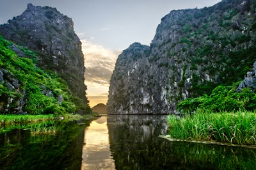
[[[9,46],[12,43],[4,40],[0,36],[0,68],[13,73],[15,79],[19,80],[20,91],[26,91],[27,103],[23,110],[28,114],[65,114],[84,109],[90,112],[88,105],[83,105],[81,99],[76,98],[68,89],[67,82],[52,72],[37,68],[36,54],[30,50],[19,47],[29,58],[19,58]],[[52,95],[45,95],[45,91],[50,91]],[[58,96],[63,96],[63,103],[58,103]],[[1,102],[8,97],[19,100],[20,93],[17,90],[8,89],[7,84],[0,83]],[[12,106],[11,106],[12,107]]]

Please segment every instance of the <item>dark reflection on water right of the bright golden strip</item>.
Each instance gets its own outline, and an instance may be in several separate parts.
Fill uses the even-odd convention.
[[[116,169],[255,169],[256,150],[158,137],[166,116],[108,116],[110,150]]]

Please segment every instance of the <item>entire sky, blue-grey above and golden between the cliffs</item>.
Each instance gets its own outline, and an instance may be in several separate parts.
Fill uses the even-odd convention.
[[[172,10],[204,8],[221,0],[0,0],[0,24],[21,15],[28,3],[51,6],[72,18],[82,42],[90,106],[106,104],[111,74],[122,50],[150,45],[161,18]]]

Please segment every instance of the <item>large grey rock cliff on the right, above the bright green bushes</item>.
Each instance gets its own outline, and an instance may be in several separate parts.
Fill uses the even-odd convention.
[[[255,61],[255,9],[255,1],[223,0],[170,12],[150,46],[133,43],[118,56],[108,112],[174,113],[182,99],[243,79]]]

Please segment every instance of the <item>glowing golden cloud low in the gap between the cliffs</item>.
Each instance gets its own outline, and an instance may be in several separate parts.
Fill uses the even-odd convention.
[[[108,100],[109,80],[115,68],[115,62],[121,50],[110,50],[102,45],[81,40],[84,54],[85,84],[91,107]]]

